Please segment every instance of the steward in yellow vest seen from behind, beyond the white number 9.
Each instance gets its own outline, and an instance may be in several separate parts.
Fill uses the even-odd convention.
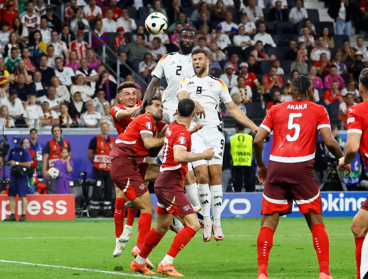
[[[245,192],[254,192],[255,185],[252,166],[253,159],[253,137],[244,133],[245,127],[236,123],[236,135],[230,137],[231,157],[233,159],[233,187],[234,192],[241,192],[245,187]]]

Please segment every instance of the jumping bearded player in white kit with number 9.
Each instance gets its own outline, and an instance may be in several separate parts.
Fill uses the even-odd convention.
[[[212,233],[215,240],[222,240],[224,235],[221,228],[222,205],[222,159],[225,139],[222,129],[219,104],[222,101],[230,115],[254,133],[258,127],[248,119],[244,112],[232,101],[226,84],[208,75],[209,52],[196,49],[192,52],[192,67],[195,75],[183,78],[178,85],[177,98],[181,101],[190,98],[195,103],[196,116],[192,119],[191,127],[201,123],[204,127],[192,135],[192,153],[202,153],[209,147],[214,147],[215,156],[211,160],[192,162],[198,178],[198,194],[204,217],[203,241],[208,242]],[[210,187],[208,187],[208,183]],[[213,223],[210,219],[212,207]]]

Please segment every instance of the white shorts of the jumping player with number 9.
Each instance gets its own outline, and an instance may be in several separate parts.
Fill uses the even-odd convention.
[[[205,125],[201,130],[192,134],[192,153],[202,153],[206,149],[213,147],[215,156],[212,160],[199,160],[192,162],[193,168],[199,165],[222,165],[224,151],[224,135],[220,126]]]

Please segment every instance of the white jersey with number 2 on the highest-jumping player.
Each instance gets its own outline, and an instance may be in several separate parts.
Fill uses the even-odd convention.
[[[157,63],[151,75],[157,76],[159,79],[165,76],[167,87],[165,89],[163,106],[170,110],[176,110],[178,108],[176,90],[179,82],[186,76],[194,75],[192,54],[183,55],[178,52],[166,54]]]

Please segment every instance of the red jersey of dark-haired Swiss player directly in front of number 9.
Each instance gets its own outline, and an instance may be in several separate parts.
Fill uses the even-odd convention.
[[[181,180],[188,172],[188,163],[177,163],[174,160],[174,148],[181,147],[185,151],[191,151],[191,135],[187,127],[178,122],[172,122],[165,131],[165,140],[162,154],[162,165],[159,175],[170,175],[170,171],[179,172]],[[182,185],[183,186],[183,185]]]

